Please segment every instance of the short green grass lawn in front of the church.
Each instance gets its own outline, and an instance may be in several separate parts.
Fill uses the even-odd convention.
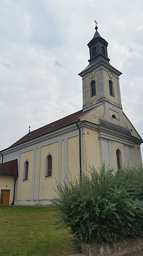
[[[74,253],[72,236],[57,228],[53,207],[1,206],[1,256],[64,256]]]

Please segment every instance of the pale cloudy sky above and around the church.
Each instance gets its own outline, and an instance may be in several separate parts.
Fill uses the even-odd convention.
[[[0,150],[82,109],[87,44],[98,31],[120,70],[123,111],[143,137],[142,0],[0,0]],[[143,147],[141,147],[143,156]]]

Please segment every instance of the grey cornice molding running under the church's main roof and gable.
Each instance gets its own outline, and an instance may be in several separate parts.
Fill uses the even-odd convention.
[[[112,141],[114,140],[114,141],[118,141],[118,142],[130,145],[130,146],[133,146],[133,143],[137,143],[137,144],[142,143],[142,140],[140,140],[136,137],[133,137],[133,136],[127,135],[127,134],[123,134],[123,133],[120,133],[120,132],[117,132],[117,131],[113,131],[113,130],[111,130],[111,129],[109,129],[109,128],[101,125],[101,124],[92,123],[92,122],[89,122],[89,121],[86,121],[86,120],[81,121],[79,119],[78,125],[81,129],[82,134],[85,133],[85,129],[90,129],[90,130],[99,132],[99,139],[108,139],[108,140],[112,140]],[[43,141],[46,141],[46,140],[49,140],[49,139],[52,139],[52,138],[56,138],[56,137],[57,137],[57,142],[58,142],[58,136],[61,136],[61,135],[64,135],[64,134],[69,133],[69,138],[73,137],[73,136],[75,136],[75,134],[71,134],[71,133],[73,133],[77,130],[78,130],[78,128],[77,128],[76,122],[74,122],[70,125],[61,127],[58,130],[54,130],[50,133],[41,135],[37,138],[33,138],[32,140],[25,141],[21,144],[15,145],[12,148],[7,148],[7,149],[3,150],[3,155],[6,155],[6,154],[9,154],[9,153],[18,151],[18,150],[22,150],[22,149],[31,147],[35,144],[38,144],[38,143],[41,143]],[[34,149],[34,147],[33,147],[33,149]]]

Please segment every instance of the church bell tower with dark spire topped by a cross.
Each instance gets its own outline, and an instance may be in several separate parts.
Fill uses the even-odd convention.
[[[97,24],[96,21],[96,32],[87,44],[89,65],[79,74],[82,77],[83,111],[103,104],[103,120],[125,127],[119,84],[122,72],[109,63],[108,43],[98,32]]]

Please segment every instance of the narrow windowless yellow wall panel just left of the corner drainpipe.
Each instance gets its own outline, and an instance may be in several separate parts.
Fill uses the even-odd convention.
[[[79,163],[79,136],[69,138],[67,140],[68,149],[67,157],[68,164],[67,168],[73,177],[78,177],[80,174],[80,163]],[[69,174],[68,174],[69,175]]]

